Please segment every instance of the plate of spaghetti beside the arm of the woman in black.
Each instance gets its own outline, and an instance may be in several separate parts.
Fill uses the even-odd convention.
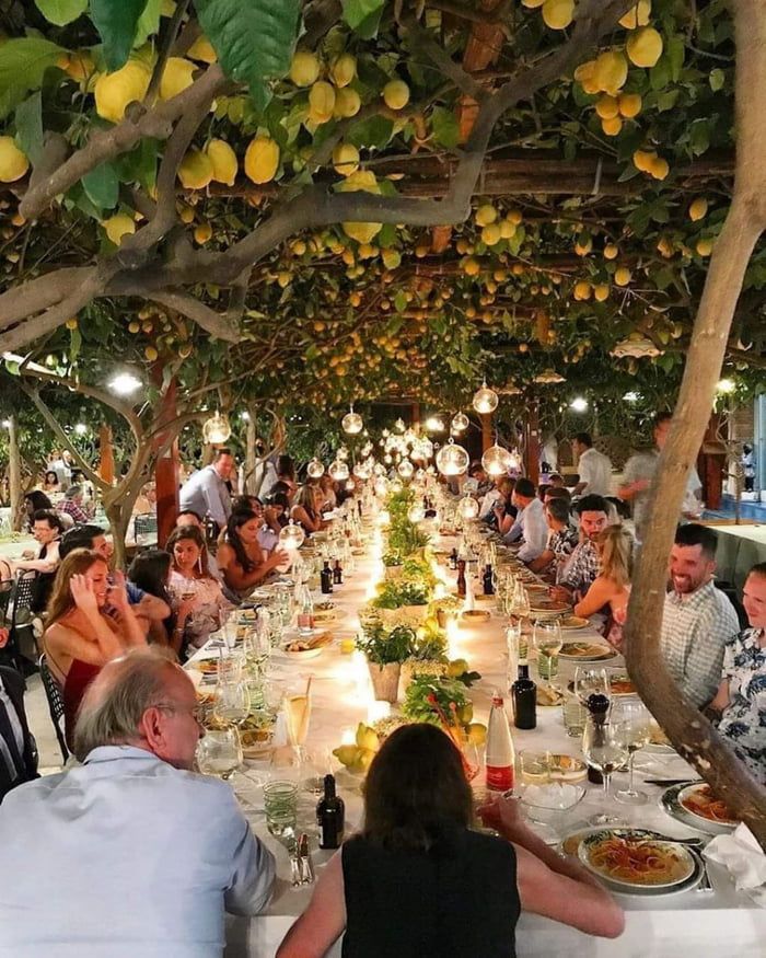
[[[684,845],[647,839],[622,830],[593,832],[580,843],[582,864],[615,888],[670,889],[687,881],[696,863]]]

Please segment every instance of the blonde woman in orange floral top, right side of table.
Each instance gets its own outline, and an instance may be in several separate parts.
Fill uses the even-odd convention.
[[[590,619],[605,612],[603,633],[613,644],[622,644],[622,625],[630,599],[632,570],[632,535],[623,526],[607,526],[595,538],[599,553],[599,575],[588,595],[574,607],[574,614]]]

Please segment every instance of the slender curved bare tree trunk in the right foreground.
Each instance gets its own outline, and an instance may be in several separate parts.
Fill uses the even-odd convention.
[[[630,592],[626,660],[641,699],[680,753],[751,828],[766,849],[766,789],[708,719],[682,694],[660,648],[668,556],[686,477],[705,434],[745,269],[766,227],[766,138],[759,100],[766,89],[766,5],[734,0],[736,174],[716,243],[686,368],[649,504],[648,534]]]

